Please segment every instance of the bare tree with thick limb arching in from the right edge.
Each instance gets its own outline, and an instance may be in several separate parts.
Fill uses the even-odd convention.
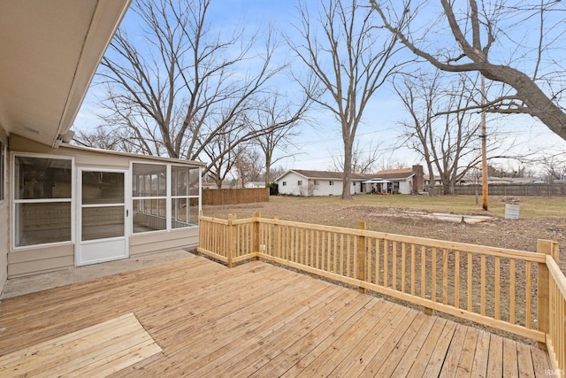
[[[459,8],[463,2],[440,0],[439,19],[430,22],[430,12],[424,14],[425,25],[432,25],[428,29],[418,19],[419,12],[430,9],[426,2],[370,2],[385,27],[432,66],[447,72],[477,71],[512,89],[503,89],[502,96],[476,107],[530,114],[566,139],[566,112],[561,105],[566,70],[553,54],[553,49],[563,48],[566,32],[562,2],[469,0],[467,7]],[[450,32],[451,41],[442,37],[443,29]]]

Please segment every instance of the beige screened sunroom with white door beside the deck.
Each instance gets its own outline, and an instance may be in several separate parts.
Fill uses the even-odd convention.
[[[8,277],[198,243],[196,162],[11,135]]]

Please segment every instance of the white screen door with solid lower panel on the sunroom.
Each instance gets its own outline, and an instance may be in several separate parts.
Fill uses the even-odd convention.
[[[76,266],[127,258],[127,171],[79,168]]]

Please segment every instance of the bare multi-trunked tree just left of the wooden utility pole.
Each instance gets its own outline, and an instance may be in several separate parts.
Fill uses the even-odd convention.
[[[447,84],[446,79],[439,72],[404,75],[394,89],[410,114],[409,121],[402,121],[404,137],[424,158],[431,181],[438,173],[444,194],[454,194],[456,182],[480,161],[481,125],[475,112],[463,110],[473,101],[468,88],[475,83],[463,74],[455,83]]]

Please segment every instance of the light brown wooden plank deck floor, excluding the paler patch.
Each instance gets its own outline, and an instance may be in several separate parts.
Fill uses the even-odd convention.
[[[112,376],[548,376],[551,369],[536,346],[263,262],[227,269],[201,257],[4,300],[0,356],[130,312],[162,351]],[[33,354],[20,357],[33,362]],[[77,358],[76,372],[88,363]]]

